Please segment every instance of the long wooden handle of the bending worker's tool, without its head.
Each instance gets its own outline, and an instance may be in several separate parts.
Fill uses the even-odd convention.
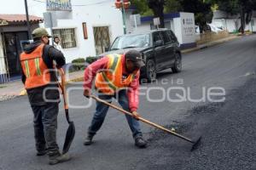
[[[91,97],[92,99],[96,99],[96,101],[99,101],[99,102],[101,102],[101,103],[103,103],[103,104],[105,104],[105,105],[108,105],[108,106],[112,107],[113,109],[116,109],[116,110],[118,110],[118,111],[121,111],[121,112],[123,112],[123,113],[125,113],[125,114],[127,114],[127,115],[133,116],[133,115],[131,114],[131,112],[125,111],[125,110],[123,110],[122,108],[120,108],[120,107],[118,107],[118,106],[116,106],[116,105],[110,104],[110,103],[108,103],[107,101],[105,101],[105,100],[103,100],[103,99],[99,99],[99,98],[97,98],[95,95],[90,95],[90,97]],[[178,133],[172,132],[171,130],[167,129],[166,127],[162,127],[162,126],[160,126],[160,125],[158,125],[158,124],[156,124],[156,123],[154,123],[154,122],[150,122],[150,121],[148,121],[147,119],[144,119],[144,118],[141,117],[141,116],[137,117],[137,119],[138,119],[139,121],[145,122],[145,123],[147,123],[147,124],[149,124],[149,125],[151,125],[151,126],[153,126],[153,127],[160,128],[161,130],[166,131],[167,133],[172,133],[174,136],[177,136],[178,138],[184,139],[184,140],[186,140],[186,141],[188,141],[188,142],[194,144],[194,142],[193,142],[191,139],[186,138],[186,137],[184,137],[183,135],[180,135],[180,134],[178,134]]]

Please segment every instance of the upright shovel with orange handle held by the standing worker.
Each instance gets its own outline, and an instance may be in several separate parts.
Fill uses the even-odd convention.
[[[70,121],[69,115],[68,115],[67,92],[66,92],[66,87],[65,87],[65,83],[66,83],[65,73],[62,68],[58,69],[58,71],[59,71],[59,74],[61,75],[61,84],[58,81],[57,82],[59,83],[59,87],[61,88],[61,91],[62,91],[66,119],[69,124],[69,126],[67,128],[66,139],[65,139],[65,142],[63,145],[63,150],[62,150],[62,154],[66,154],[70,148],[70,145],[73,142],[73,138],[75,135],[75,127],[74,127],[73,122]]]

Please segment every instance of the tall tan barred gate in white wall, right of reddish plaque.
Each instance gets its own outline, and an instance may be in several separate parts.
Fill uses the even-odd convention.
[[[110,46],[108,26],[99,26],[93,28],[96,54],[105,52],[105,47]]]

